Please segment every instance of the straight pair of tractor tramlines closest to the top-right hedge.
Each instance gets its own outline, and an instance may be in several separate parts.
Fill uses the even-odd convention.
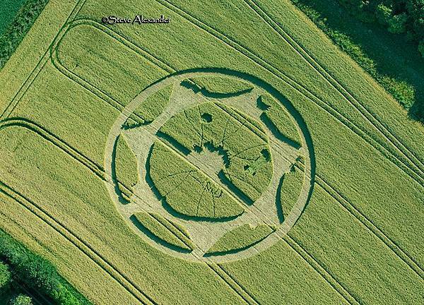
[[[357,100],[353,93],[349,92],[341,83],[336,80],[329,71],[326,70],[324,66],[319,64],[317,59],[314,58],[314,56],[307,52],[307,49],[305,47],[302,47],[300,42],[296,41],[293,37],[288,35],[287,32],[283,29],[283,27],[274,21],[271,16],[269,16],[264,9],[262,9],[259,4],[257,4],[254,0],[244,0],[246,4],[252,8],[252,10],[257,13],[273,30],[280,35],[280,37],[287,42],[290,47],[292,47],[299,56],[301,56],[305,61],[307,61],[310,66],[314,68],[319,75],[321,75],[324,79],[327,80],[327,82],[335,88],[338,92],[340,92],[341,95],[343,95],[344,99],[349,102],[355,109],[358,110],[363,115],[363,118],[367,120],[372,126],[379,131],[382,136],[388,140],[396,150],[401,152],[401,154],[406,157],[409,162],[411,162],[411,165],[415,166],[419,172],[420,175],[423,175],[424,173],[424,163],[418,156],[416,156],[411,150],[409,150],[401,141],[399,138],[396,137],[394,133],[392,133],[387,126],[385,126],[381,120],[375,116],[375,114],[372,114],[367,107],[364,106],[359,100]],[[399,146],[404,149],[399,149]]]

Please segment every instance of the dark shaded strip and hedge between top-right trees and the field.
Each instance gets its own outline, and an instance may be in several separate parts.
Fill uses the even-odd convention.
[[[389,33],[378,23],[358,20],[340,1],[294,2],[302,10],[312,11],[312,19],[316,19],[314,21],[319,28],[326,28],[324,32],[347,36],[353,45],[339,42],[341,49],[361,62],[365,71],[382,83],[396,100],[406,104],[406,108],[410,107],[408,116],[411,119],[424,123],[424,58],[415,43],[409,42],[404,34]],[[349,52],[349,49],[357,50],[357,46],[360,47],[359,52]],[[415,92],[409,92],[404,84],[411,86]]]

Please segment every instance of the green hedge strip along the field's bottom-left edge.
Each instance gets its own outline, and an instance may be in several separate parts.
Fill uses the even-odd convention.
[[[45,258],[26,249],[0,229],[0,258],[10,266],[13,274],[41,294],[60,305],[90,305],[90,302],[73,288]]]

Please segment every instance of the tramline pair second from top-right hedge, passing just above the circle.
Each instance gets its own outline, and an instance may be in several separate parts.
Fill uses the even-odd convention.
[[[155,0],[159,4],[162,4],[166,8],[169,8],[171,11],[177,13],[177,15],[181,16],[182,18],[186,19],[190,23],[196,25],[198,28],[201,28],[202,30],[205,30],[209,34],[216,37],[218,40],[223,42],[224,44],[227,44],[232,49],[235,49],[237,52],[240,52],[240,54],[246,56],[248,59],[254,61],[256,64],[261,66],[262,68],[265,68],[267,71],[272,73],[274,76],[280,78],[285,83],[290,85],[293,89],[300,92],[301,95],[307,97],[308,100],[311,100],[314,102],[314,104],[317,104],[320,108],[322,108],[325,112],[331,114],[331,116],[334,116],[334,118],[341,122],[341,124],[347,126],[350,128],[353,132],[357,133],[358,136],[361,138],[364,138],[367,143],[370,143],[374,148],[376,148],[379,152],[381,152],[384,156],[388,157],[389,160],[396,165],[396,167],[399,167],[402,171],[404,171],[406,174],[408,174],[411,179],[416,181],[420,186],[424,187],[424,177],[420,174],[417,174],[413,171],[408,165],[405,164],[405,160],[401,160],[401,158],[398,155],[395,155],[394,152],[391,152],[388,148],[384,147],[384,144],[379,143],[377,140],[375,140],[372,136],[367,133],[365,128],[361,128],[359,126],[356,126],[355,123],[353,123],[351,120],[349,120],[346,116],[341,114],[340,112],[337,112],[336,109],[331,107],[327,102],[324,102],[323,100],[320,100],[319,97],[314,95],[314,93],[310,92],[302,86],[301,84],[297,83],[296,80],[288,76],[283,71],[278,70],[275,66],[269,64],[267,61],[262,59],[261,57],[257,56],[253,52],[251,52],[247,47],[244,47],[234,40],[231,40],[228,36],[224,35],[221,32],[218,32],[216,29],[212,28],[210,25],[207,25],[206,23],[203,23],[201,20],[195,18],[194,16],[189,15],[189,13],[183,11],[181,8],[175,6],[174,4],[170,3],[170,1],[167,0]],[[375,142],[373,145],[372,142]],[[383,150],[383,151],[382,151]],[[384,152],[387,151],[389,156]]]

